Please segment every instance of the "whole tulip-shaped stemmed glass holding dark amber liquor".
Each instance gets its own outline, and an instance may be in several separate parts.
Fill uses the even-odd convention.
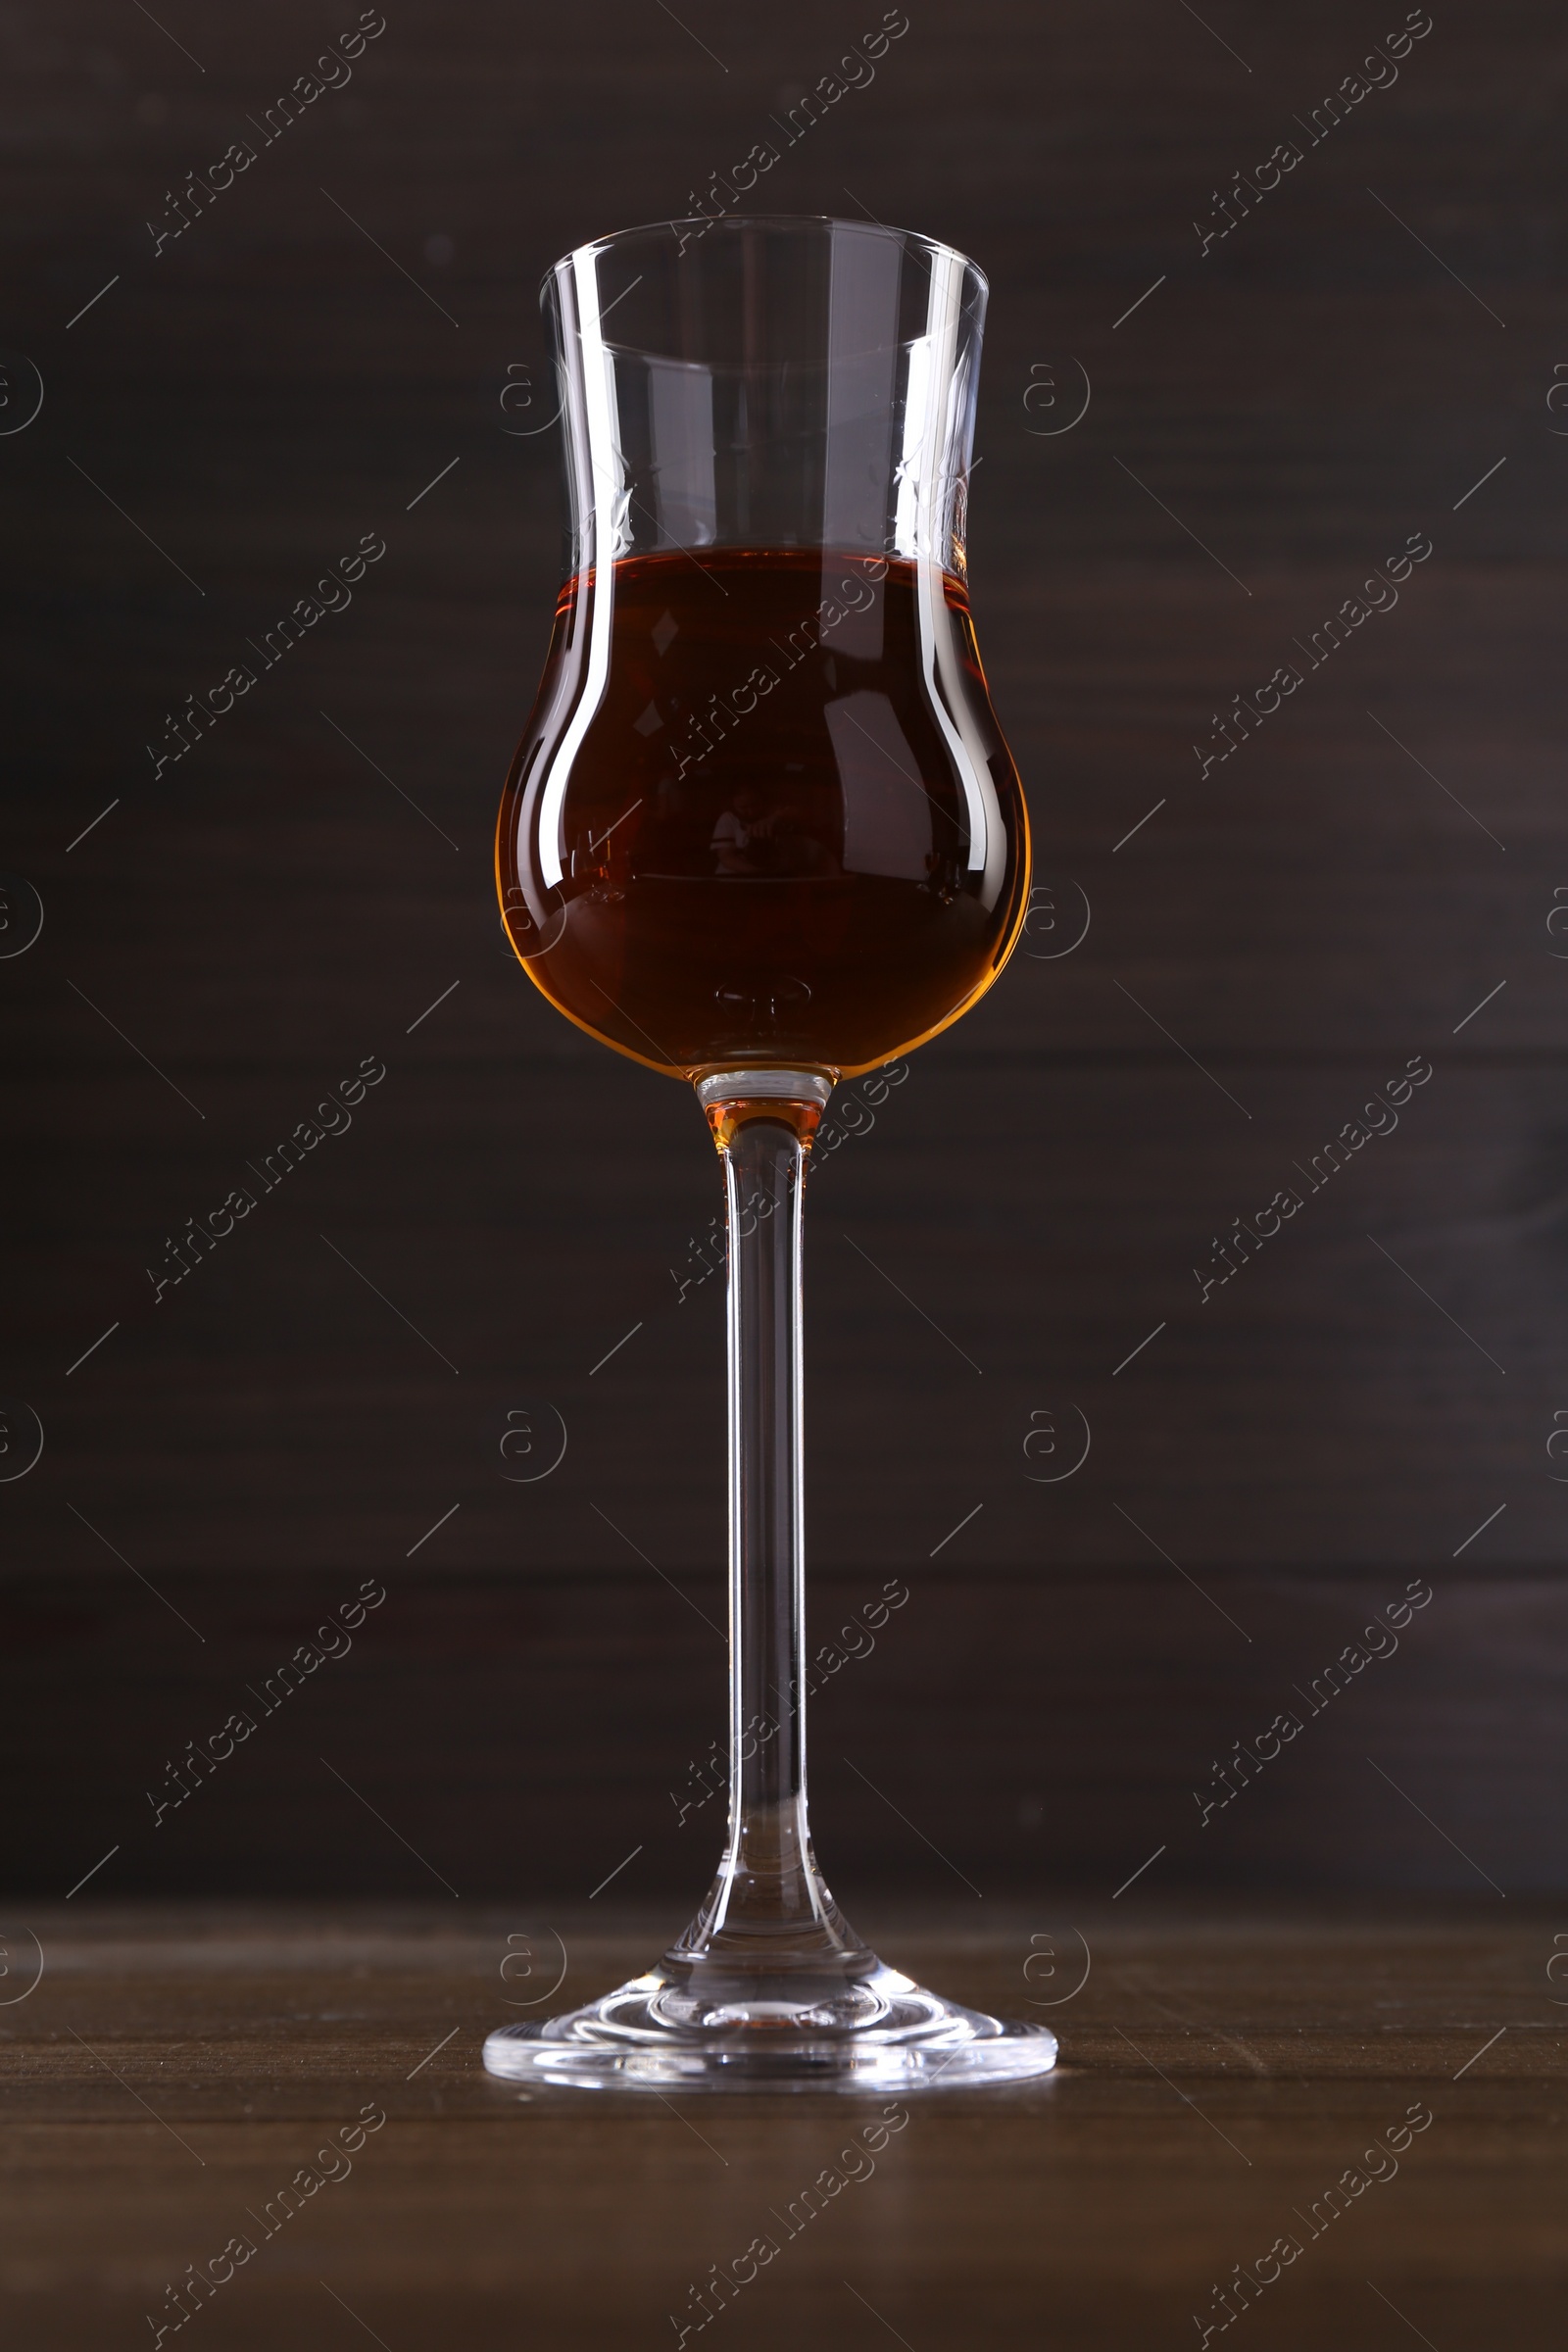
[[[501,910],[592,1037],[696,1084],[729,1216],[729,1844],[644,1976],[510,2079],[879,2091],[1056,2063],[846,1924],[806,1828],[802,1190],[832,1087],[997,978],[1023,790],[964,590],[985,280],[827,219],[665,221],[543,285],[571,550]]]

